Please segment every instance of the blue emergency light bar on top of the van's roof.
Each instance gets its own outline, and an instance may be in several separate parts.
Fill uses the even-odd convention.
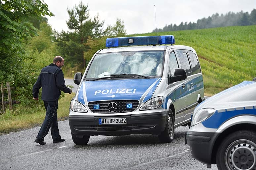
[[[131,46],[131,45],[162,45],[175,44],[173,35],[168,36],[134,36],[121,38],[107,38],[106,47]]]

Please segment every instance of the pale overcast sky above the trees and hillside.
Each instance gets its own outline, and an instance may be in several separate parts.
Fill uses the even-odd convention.
[[[67,31],[67,8],[78,5],[81,0],[44,0],[55,15],[48,18],[53,29]],[[90,17],[99,13],[104,28],[114,25],[116,18],[124,21],[127,34],[152,32],[156,26],[181,22],[197,22],[212,14],[231,12],[249,12],[255,8],[256,0],[82,0],[88,4]],[[156,14],[156,15],[155,15]],[[156,19],[155,19],[156,18]]]

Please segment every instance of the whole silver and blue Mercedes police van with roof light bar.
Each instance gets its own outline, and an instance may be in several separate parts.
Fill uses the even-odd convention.
[[[171,142],[174,128],[190,126],[204,100],[201,67],[192,47],[173,44],[172,35],[106,39],[108,48],[74,75],[69,125],[76,145],[92,135],[153,134]]]

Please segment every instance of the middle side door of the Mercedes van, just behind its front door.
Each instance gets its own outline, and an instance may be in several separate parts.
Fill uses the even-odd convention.
[[[183,114],[183,121],[186,120],[185,115],[186,115],[186,108],[188,107],[188,103],[186,103],[187,101],[187,96],[189,94],[188,91],[188,81],[191,78],[192,75],[192,71],[191,71],[191,65],[190,65],[190,60],[189,60],[189,56],[188,56],[188,52],[187,50],[177,50],[177,54],[180,60],[180,64],[181,64],[181,68],[183,68],[186,73],[187,73],[187,79],[184,80],[183,83],[183,91],[184,91],[184,96],[185,96],[185,101],[184,101],[184,114]]]

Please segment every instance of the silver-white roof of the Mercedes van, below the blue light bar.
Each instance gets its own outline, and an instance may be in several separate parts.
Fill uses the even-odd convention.
[[[100,50],[98,53],[112,53],[112,52],[122,52],[122,51],[162,51],[167,47],[174,48],[175,50],[192,50],[194,49],[189,46],[185,45],[148,45],[148,46],[128,46],[128,47],[113,47],[113,48],[106,48]]]

